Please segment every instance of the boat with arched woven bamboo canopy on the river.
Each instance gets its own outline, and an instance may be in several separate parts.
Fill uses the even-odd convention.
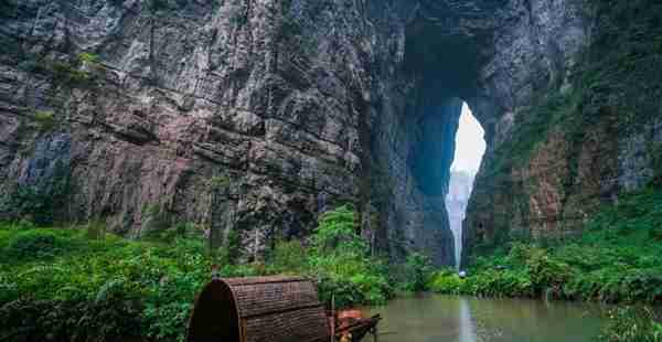
[[[378,321],[378,316],[338,318],[333,311],[329,317],[305,278],[213,279],[195,300],[186,341],[357,342],[369,332],[376,340]]]

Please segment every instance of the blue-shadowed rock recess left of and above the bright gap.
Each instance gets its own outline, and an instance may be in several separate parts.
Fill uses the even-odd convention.
[[[419,1],[408,10],[404,57],[389,77],[395,83],[383,82],[377,90],[370,204],[386,228],[373,234],[392,256],[424,250],[435,264],[452,266],[445,196],[455,135],[462,99],[479,97],[480,68],[493,56],[491,40],[505,4]]]

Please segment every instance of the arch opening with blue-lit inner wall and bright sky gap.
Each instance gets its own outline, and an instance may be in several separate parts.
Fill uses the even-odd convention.
[[[437,265],[458,267],[462,222],[489,133],[461,97],[428,94],[418,101],[420,111],[410,117],[407,164],[414,186],[401,213],[412,217],[407,221],[414,228],[410,239],[419,242],[415,250],[423,250]],[[412,211],[414,205],[421,210]]]

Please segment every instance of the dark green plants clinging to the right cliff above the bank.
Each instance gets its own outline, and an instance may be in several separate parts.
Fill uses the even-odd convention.
[[[591,1],[591,4],[586,7],[585,14],[595,24],[595,36],[578,55],[575,70],[553,75],[546,87],[536,90],[531,106],[520,108],[515,114],[505,141],[484,160],[483,177],[489,182],[483,185],[489,188],[482,190],[499,193],[510,201],[500,201],[490,231],[481,236],[480,245],[472,246],[472,253],[484,254],[506,244],[511,217],[521,214],[524,221],[532,218],[527,216],[531,191],[538,189],[538,180],[548,171],[562,182],[563,188],[557,191],[564,212],[573,212],[574,203],[580,203],[585,212],[599,205],[599,199],[586,196],[586,173],[578,177],[579,157],[595,139],[599,141],[597,154],[618,156],[619,148],[628,139],[611,137],[642,135],[651,141],[647,154],[660,185],[662,162],[659,156],[662,154],[659,143],[653,141],[659,140],[654,137],[654,127],[659,121],[659,99],[662,98],[662,68],[659,67],[662,62],[662,7],[654,0]],[[567,84],[562,86],[564,77]],[[549,139],[552,136],[554,140]],[[538,154],[545,142],[554,145]],[[540,163],[530,164],[533,157],[544,159],[551,157],[548,153],[567,162],[548,165],[563,171],[542,169]],[[568,172],[564,172],[566,169]],[[527,172],[516,172],[521,170]],[[618,163],[609,157],[600,162],[601,175],[596,173],[595,177],[610,178],[618,172]]]

